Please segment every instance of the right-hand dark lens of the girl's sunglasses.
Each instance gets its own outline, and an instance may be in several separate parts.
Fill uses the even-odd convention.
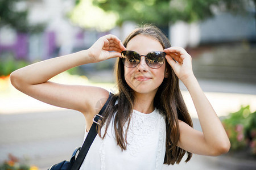
[[[147,54],[146,63],[153,69],[158,69],[164,63],[166,53],[164,52],[151,52]]]

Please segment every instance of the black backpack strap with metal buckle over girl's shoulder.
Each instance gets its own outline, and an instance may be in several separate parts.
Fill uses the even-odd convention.
[[[81,150],[79,152],[79,155],[77,156],[76,161],[73,164],[71,170],[78,170],[81,167],[82,162],[84,161],[85,156],[88,153],[89,148],[90,148],[90,146],[92,145],[92,143],[94,141],[94,138],[98,134],[97,126],[98,126],[98,124],[100,124],[100,121],[101,121],[101,118],[102,118],[101,114],[105,111],[106,107],[108,106],[109,101],[110,101],[112,95],[113,94],[110,92],[108,100],[106,101],[106,103],[102,107],[101,111],[94,116],[92,127],[90,128],[90,130],[88,132],[88,135],[87,135],[84,143],[82,144],[82,147],[81,147]]]

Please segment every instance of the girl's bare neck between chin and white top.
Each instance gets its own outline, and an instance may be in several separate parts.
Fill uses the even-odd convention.
[[[155,94],[138,94],[135,92],[134,109],[141,113],[151,113],[154,111]]]

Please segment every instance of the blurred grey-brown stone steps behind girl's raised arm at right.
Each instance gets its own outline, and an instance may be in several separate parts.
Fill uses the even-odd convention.
[[[256,46],[214,46],[192,58],[192,65],[195,75],[199,78],[255,83]]]

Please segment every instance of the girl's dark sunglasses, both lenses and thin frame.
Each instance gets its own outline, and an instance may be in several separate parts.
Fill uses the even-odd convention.
[[[123,65],[129,68],[133,68],[139,65],[139,62],[141,62],[141,56],[137,52],[126,50],[121,52],[122,55],[122,62]],[[146,56],[146,64],[151,67],[152,69],[158,69],[160,68],[165,60],[166,53],[164,52],[150,52]]]

